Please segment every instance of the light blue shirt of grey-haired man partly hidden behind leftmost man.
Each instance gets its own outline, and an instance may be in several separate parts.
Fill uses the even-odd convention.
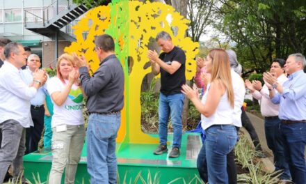
[[[33,72],[29,69],[29,67],[24,70],[21,70],[20,75],[22,76],[22,80],[24,81],[24,83],[26,83],[27,85],[33,82]],[[47,91],[47,82],[44,86],[41,86],[38,89],[35,97],[31,99],[31,105],[44,105],[46,99],[45,91]]]

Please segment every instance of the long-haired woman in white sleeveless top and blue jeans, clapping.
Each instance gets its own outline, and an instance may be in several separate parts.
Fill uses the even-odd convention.
[[[202,102],[197,89],[184,84],[182,92],[201,113],[202,128],[206,135],[203,146],[209,183],[228,183],[226,155],[232,151],[238,137],[233,124],[234,90],[230,61],[224,49],[211,49],[204,62],[208,75],[203,75],[207,91]]]

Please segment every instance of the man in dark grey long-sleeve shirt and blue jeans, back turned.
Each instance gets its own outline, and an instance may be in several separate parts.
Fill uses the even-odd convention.
[[[85,58],[79,61],[81,85],[88,96],[87,169],[90,183],[117,183],[115,139],[123,108],[124,73],[114,53],[115,43],[107,34],[95,38],[100,64],[90,77]]]

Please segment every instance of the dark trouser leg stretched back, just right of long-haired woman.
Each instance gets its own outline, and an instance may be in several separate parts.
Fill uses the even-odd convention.
[[[248,115],[246,115],[246,113],[244,111],[242,111],[241,113],[241,123],[242,126],[245,128],[245,130],[248,131],[248,133],[250,134],[250,137],[253,141],[253,144],[256,148],[257,151],[262,151],[261,146],[259,144],[259,139],[258,139],[258,135],[256,133],[255,128],[252,125],[252,122],[250,121],[250,118],[248,118]]]

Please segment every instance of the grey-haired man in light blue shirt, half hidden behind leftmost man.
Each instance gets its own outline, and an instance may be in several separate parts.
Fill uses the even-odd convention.
[[[28,56],[28,66],[26,69],[21,70],[20,74],[24,82],[29,85],[33,82],[33,73],[39,70],[41,63],[40,57],[36,54]],[[47,91],[46,85],[40,87],[33,99],[31,99],[31,117],[34,126],[26,128],[26,154],[32,153],[38,150],[38,142],[42,136],[42,130],[44,128],[44,115],[45,115],[45,91]]]

